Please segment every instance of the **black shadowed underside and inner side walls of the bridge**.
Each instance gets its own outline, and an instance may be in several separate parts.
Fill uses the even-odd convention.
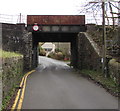
[[[44,32],[33,32],[33,65],[37,66],[37,47],[38,42],[70,42],[71,43],[71,64],[76,67],[77,61],[77,35],[78,33],[44,33]]]

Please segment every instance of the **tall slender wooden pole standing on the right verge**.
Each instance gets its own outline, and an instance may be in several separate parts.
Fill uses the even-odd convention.
[[[102,48],[103,48],[103,57],[102,57],[102,73],[107,76],[107,68],[106,68],[106,28],[105,28],[105,2],[102,2],[102,25],[103,25],[103,41],[102,41]]]

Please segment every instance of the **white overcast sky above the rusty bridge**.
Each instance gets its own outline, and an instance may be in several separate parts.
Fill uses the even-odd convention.
[[[1,0],[0,22],[19,22],[20,13],[23,22],[26,21],[26,15],[79,15],[89,1],[91,0]],[[92,14],[85,16],[87,22],[93,22],[93,17],[90,17]],[[101,20],[101,17],[98,19]]]

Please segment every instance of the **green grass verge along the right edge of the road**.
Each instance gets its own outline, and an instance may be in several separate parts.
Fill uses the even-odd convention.
[[[92,70],[83,69],[80,71],[80,74],[83,77],[93,80],[96,84],[105,88],[113,96],[118,97],[120,87],[112,78],[105,78],[102,73]]]

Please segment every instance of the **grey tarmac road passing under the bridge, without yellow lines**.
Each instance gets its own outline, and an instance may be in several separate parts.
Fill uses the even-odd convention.
[[[28,76],[22,109],[118,109],[117,98],[66,63],[40,56],[39,64]]]

